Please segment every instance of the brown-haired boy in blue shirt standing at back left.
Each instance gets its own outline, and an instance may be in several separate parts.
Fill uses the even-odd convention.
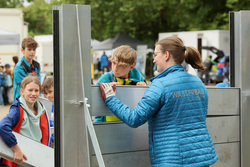
[[[13,79],[13,101],[20,96],[20,83],[28,74],[37,75],[40,79],[40,64],[34,60],[38,43],[32,38],[27,37],[22,41],[22,59],[16,64]]]

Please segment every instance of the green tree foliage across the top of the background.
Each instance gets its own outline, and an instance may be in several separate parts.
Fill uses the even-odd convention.
[[[22,7],[30,35],[52,34],[52,6],[91,5],[91,35],[104,40],[119,32],[154,43],[159,32],[229,29],[229,12],[250,9],[250,0],[1,0],[0,7]]]

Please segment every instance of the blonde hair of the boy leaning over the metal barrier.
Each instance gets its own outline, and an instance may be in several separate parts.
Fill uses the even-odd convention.
[[[128,45],[121,45],[117,47],[113,56],[109,58],[112,63],[117,65],[133,65],[136,63],[137,52]]]

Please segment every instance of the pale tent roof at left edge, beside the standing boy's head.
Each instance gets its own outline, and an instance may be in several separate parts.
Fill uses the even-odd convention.
[[[0,45],[19,45],[20,35],[0,29]]]

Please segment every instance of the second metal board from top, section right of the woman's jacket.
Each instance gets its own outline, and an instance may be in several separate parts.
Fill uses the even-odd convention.
[[[239,116],[209,117],[206,119],[207,128],[213,143],[239,142]]]

